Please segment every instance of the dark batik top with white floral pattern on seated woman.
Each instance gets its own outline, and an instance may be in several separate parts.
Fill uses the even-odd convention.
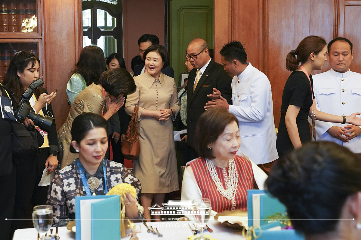
[[[82,178],[78,169],[79,159],[61,169],[51,182],[48,191],[47,204],[53,206],[54,224],[53,226],[66,226],[69,219],[75,218],[75,196],[86,196]],[[100,180],[100,186],[95,190],[96,195],[105,195],[103,166],[106,169],[106,186],[109,189],[121,184],[128,183],[132,185],[139,195],[142,187],[138,178],[132,175],[130,169],[124,167],[121,163],[116,163],[108,159],[100,164],[95,175],[90,175],[85,168],[84,175],[88,180],[90,177],[96,177]],[[91,191],[92,192],[92,191]],[[140,214],[140,213],[139,213]],[[140,217],[142,214],[139,215]],[[64,220],[60,220],[64,219]]]

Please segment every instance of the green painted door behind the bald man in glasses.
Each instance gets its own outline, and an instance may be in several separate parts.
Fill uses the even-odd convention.
[[[170,1],[170,58],[177,83],[186,71],[184,55],[193,39],[204,39],[213,49],[213,6],[214,0]]]

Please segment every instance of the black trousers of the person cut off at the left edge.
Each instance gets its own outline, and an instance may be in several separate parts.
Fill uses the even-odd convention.
[[[12,238],[10,229],[14,218],[14,205],[16,193],[16,166],[13,164],[13,171],[6,176],[0,177],[0,240]]]

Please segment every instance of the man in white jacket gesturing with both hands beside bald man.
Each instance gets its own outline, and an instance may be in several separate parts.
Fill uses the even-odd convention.
[[[247,63],[247,53],[239,41],[225,44],[219,51],[225,71],[232,79],[232,105],[222,97],[209,101],[205,109],[223,107],[239,121],[241,146],[237,152],[269,170],[278,159],[273,118],[271,84],[267,76]]]

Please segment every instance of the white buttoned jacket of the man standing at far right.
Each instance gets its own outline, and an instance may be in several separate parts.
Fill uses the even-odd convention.
[[[343,114],[349,116],[352,113],[361,112],[360,73],[351,71],[339,73],[330,69],[312,77],[318,110],[338,116]],[[350,124],[316,121],[316,140],[336,142],[347,147],[353,153],[361,153],[361,135],[354,137],[349,142],[342,142],[327,132],[332,126],[344,127],[347,125]]]

